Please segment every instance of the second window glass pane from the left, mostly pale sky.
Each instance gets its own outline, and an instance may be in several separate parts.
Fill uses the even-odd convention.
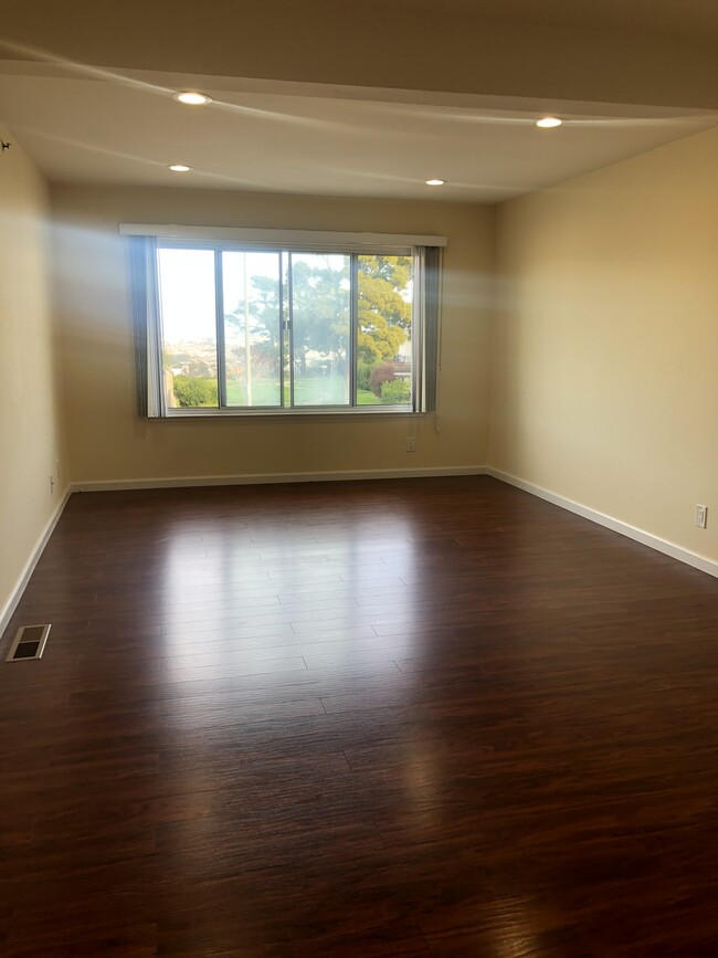
[[[281,406],[278,253],[222,253],[228,406]]]

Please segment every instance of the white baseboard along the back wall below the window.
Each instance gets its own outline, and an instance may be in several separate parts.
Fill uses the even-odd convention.
[[[182,486],[270,485],[273,483],[348,482],[352,480],[424,478],[431,476],[484,475],[481,465],[427,466],[425,469],[341,470],[337,472],[276,472],[221,476],[167,476],[145,480],[107,480],[73,483],[73,493],[113,489],[161,489]]]

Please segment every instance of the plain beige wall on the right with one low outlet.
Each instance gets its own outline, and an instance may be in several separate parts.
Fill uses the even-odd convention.
[[[499,209],[489,452],[714,560],[717,170],[714,130]]]

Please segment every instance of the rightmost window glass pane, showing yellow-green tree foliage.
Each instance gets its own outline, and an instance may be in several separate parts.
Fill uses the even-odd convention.
[[[357,406],[411,403],[411,256],[357,257]]]

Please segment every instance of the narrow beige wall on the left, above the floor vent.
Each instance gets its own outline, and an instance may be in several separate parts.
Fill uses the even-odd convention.
[[[1,126],[0,135],[12,139]],[[61,475],[50,489],[56,461],[65,456],[53,368],[47,214],[46,186],[13,143],[0,156],[0,622],[66,486]]]

